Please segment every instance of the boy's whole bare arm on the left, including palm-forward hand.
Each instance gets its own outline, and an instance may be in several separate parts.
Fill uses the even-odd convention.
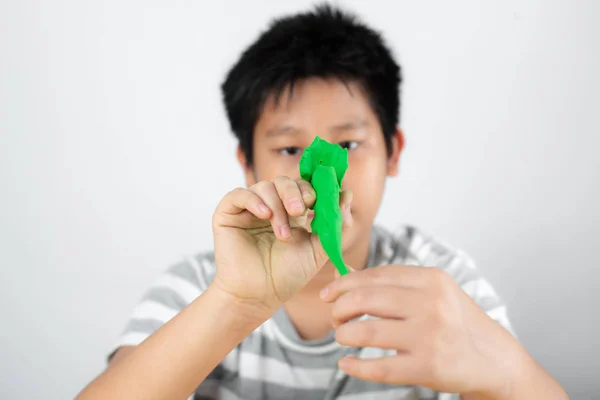
[[[315,198],[308,182],[286,177],[228,193],[213,215],[212,284],[186,296],[187,307],[123,350],[129,354],[121,353],[78,398],[187,398],[327,261],[318,238],[298,224]]]

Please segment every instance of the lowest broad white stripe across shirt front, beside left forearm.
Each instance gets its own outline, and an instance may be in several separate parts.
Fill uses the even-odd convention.
[[[327,389],[333,368],[301,368],[273,358],[247,352],[231,352],[221,363],[242,379],[274,383],[292,389]],[[237,363],[236,363],[237,361]]]

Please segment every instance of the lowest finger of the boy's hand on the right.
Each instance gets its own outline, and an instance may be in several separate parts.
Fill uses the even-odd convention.
[[[421,364],[410,354],[370,359],[348,356],[338,363],[346,374],[365,381],[427,386],[431,379],[428,379],[427,372]]]

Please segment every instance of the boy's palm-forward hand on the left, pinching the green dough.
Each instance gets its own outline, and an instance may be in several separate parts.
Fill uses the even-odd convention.
[[[214,284],[236,300],[274,312],[325,265],[319,239],[307,230],[316,200],[310,183],[277,177],[228,193],[213,215]],[[350,192],[340,205],[348,223]],[[348,216],[348,217],[347,217]]]

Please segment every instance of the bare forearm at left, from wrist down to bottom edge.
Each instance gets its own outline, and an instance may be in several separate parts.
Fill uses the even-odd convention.
[[[269,317],[211,285],[181,313],[111,366],[78,399],[185,399]]]

